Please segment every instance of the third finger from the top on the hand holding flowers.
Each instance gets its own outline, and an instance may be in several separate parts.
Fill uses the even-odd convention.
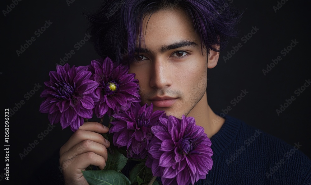
[[[94,152],[97,155],[103,156],[106,161],[108,160],[107,148],[104,145],[91,140],[84,140],[60,156],[59,164],[87,152]]]

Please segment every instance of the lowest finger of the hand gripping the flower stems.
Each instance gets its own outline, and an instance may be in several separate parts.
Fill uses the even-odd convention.
[[[100,169],[104,169],[106,161],[103,156],[97,155],[94,152],[87,152],[65,160],[61,164],[61,167],[65,174],[74,175],[81,174],[81,170],[85,170],[90,165],[95,165]]]

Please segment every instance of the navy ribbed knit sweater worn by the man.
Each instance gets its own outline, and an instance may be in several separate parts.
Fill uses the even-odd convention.
[[[290,146],[228,115],[211,142],[213,167],[195,184],[311,184],[311,160],[299,150],[309,146]],[[59,155],[49,159],[47,171],[40,168],[31,184],[63,184],[58,160]],[[123,169],[125,175],[131,166]]]

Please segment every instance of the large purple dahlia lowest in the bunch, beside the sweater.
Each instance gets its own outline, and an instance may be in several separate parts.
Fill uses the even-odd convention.
[[[159,118],[151,127],[154,137],[149,143],[146,166],[163,184],[194,184],[205,179],[211,170],[211,141],[193,117]]]

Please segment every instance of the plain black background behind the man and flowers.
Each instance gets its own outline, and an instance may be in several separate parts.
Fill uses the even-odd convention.
[[[279,1],[281,2],[281,1]],[[242,21],[238,24],[239,36],[232,39],[225,51],[221,52],[218,65],[208,70],[208,101],[213,111],[221,112],[227,106],[232,110],[228,115],[245,121],[264,132],[272,134],[294,146],[299,142],[300,151],[311,157],[310,137],[310,92],[307,87],[299,97],[294,93],[304,85],[310,75],[310,34],[309,34],[309,3],[307,1],[285,0],[276,12],[273,6],[278,1],[246,1],[234,0],[233,4],[245,11]],[[6,10],[12,1],[2,1],[1,10]],[[60,124],[49,132],[42,140],[38,134],[49,126],[47,114],[39,112],[44,100],[39,95],[44,89],[44,81],[49,80],[49,71],[56,70],[55,63],[65,57],[65,53],[75,50],[74,44],[84,38],[88,22],[83,13],[97,10],[101,1],[75,1],[67,5],[62,1],[21,1],[6,16],[2,16],[2,65],[0,81],[2,87],[1,109],[14,108],[15,103],[25,101],[9,120],[10,132],[10,184],[23,184],[30,181],[33,171],[49,159],[53,152],[68,140],[72,132],[63,129]],[[44,26],[45,21],[53,22],[39,37],[35,31]],[[246,43],[241,41],[244,35],[251,32],[252,27],[259,30]],[[31,37],[36,40],[17,56],[16,50]],[[281,50],[290,45],[291,40],[297,45],[282,56]],[[232,47],[242,43],[229,60],[227,55]],[[262,69],[281,56],[282,60],[266,75]],[[86,42],[68,60],[70,66],[88,65],[99,56],[95,53],[91,42]],[[29,100],[24,95],[34,89],[35,84],[42,87]],[[241,90],[249,93],[233,106],[231,100],[240,95]],[[295,101],[277,115],[276,109],[285,99],[295,96]],[[4,130],[4,120],[2,120]],[[3,131],[2,131],[3,133]],[[4,134],[2,136],[4,139]],[[38,140],[28,155],[19,156],[29,143]],[[3,150],[3,149],[2,149]],[[254,154],[256,155],[256,154]],[[2,154],[5,157],[5,153]],[[5,166],[0,174],[4,174]],[[0,179],[1,183],[6,181]]]

